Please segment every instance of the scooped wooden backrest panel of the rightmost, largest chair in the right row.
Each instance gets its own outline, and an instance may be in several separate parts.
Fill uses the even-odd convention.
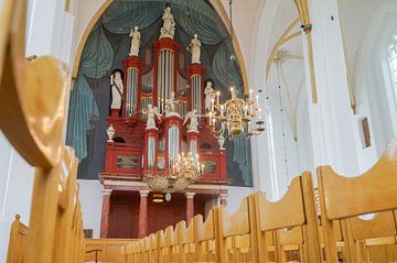
[[[342,177],[330,166],[319,167],[328,218],[342,219],[396,208],[396,151],[397,140],[393,140],[378,163],[360,177]]]

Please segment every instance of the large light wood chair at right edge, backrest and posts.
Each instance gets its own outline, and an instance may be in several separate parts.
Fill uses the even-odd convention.
[[[319,190],[321,199],[322,222],[324,228],[325,253],[328,262],[337,262],[334,221],[341,221],[345,246],[345,262],[360,262],[357,253],[361,238],[378,233],[389,234],[385,222],[376,227],[376,219],[371,222],[357,221],[356,216],[372,212],[391,211],[397,208],[397,141],[394,140],[382,158],[373,168],[358,177],[342,177],[330,166],[318,168]],[[394,218],[394,217],[393,217]],[[391,218],[389,218],[391,219]],[[396,223],[396,219],[393,219]],[[352,232],[353,227],[356,231]],[[360,226],[361,224],[361,226]],[[372,226],[371,226],[372,224]],[[368,228],[362,231],[360,229]],[[382,227],[383,230],[379,228]],[[376,232],[376,234],[375,234]],[[355,235],[353,235],[355,234]]]

